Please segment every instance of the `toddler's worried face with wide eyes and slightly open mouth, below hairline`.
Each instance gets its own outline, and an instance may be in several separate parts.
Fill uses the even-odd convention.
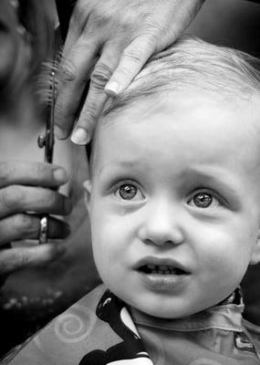
[[[95,148],[99,274],[161,318],[217,304],[259,259],[259,110],[198,94],[135,104],[99,126]]]

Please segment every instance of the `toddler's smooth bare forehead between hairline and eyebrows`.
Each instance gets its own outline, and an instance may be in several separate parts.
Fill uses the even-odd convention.
[[[158,152],[164,143],[170,146],[179,139],[190,150],[201,144],[203,154],[218,153],[225,145],[233,146],[235,154],[251,144],[250,151],[260,156],[260,103],[256,101],[226,100],[195,90],[140,99],[99,122],[95,150],[103,146],[105,151],[106,141],[112,140],[115,151],[120,148],[132,153],[140,150],[140,144],[148,145],[155,135]],[[120,143],[122,139],[125,144]],[[248,157],[250,151],[244,149],[244,155]]]

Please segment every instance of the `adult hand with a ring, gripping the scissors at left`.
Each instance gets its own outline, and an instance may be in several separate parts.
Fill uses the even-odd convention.
[[[46,264],[64,253],[64,245],[57,243],[6,246],[38,238],[37,214],[70,213],[68,198],[52,190],[67,180],[64,169],[45,162],[0,162],[0,278],[20,268]],[[68,224],[49,218],[50,238],[65,238],[68,234]]]

